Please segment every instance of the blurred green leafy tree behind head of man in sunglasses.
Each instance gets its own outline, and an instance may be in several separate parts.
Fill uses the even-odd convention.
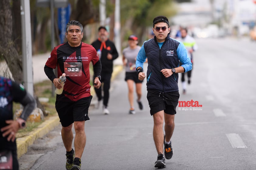
[[[142,43],[148,34],[147,28],[153,27],[153,18],[158,15],[170,18],[176,14],[173,6],[173,0],[121,0],[122,38],[136,34]]]

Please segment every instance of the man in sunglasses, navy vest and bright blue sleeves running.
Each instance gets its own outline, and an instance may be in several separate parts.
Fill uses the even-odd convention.
[[[185,46],[170,38],[168,18],[165,16],[154,18],[153,32],[154,38],[144,42],[140,48],[136,70],[139,80],[144,80],[146,76],[143,72],[143,63],[147,58],[147,100],[150,115],[154,119],[153,138],[158,153],[154,166],[164,168],[165,158],[171,159],[173,155],[171,136],[179,99],[178,73],[191,70],[192,63]],[[181,66],[179,61],[182,63]]]

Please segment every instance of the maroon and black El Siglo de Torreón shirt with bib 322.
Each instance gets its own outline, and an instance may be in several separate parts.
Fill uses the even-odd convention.
[[[72,102],[91,95],[91,86],[89,84],[90,62],[92,62],[95,75],[100,75],[101,63],[92,45],[81,42],[78,47],[71,47],[68,42],[66,42],[53,49],[45,64],[45,73],[48,78],[53,81],[56,76],[52,69],[57,66],[58,77],[61,76],[62,73],[66,73],[67,77],[63,93],[57,95],[56,100]],[[50,72],[49,68],[51,69]]]

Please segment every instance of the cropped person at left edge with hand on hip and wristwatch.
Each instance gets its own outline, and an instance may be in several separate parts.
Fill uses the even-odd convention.
[[[13,120],[13,102],[23,106],[17,120]],[[0,169],[19,170],[16,133],[26,127],[26,120],[35,107],[35,99],[23,85],[0,76]]]

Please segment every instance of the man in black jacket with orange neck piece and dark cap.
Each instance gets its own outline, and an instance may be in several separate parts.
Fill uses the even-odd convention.
[[[98,29],[98,35],[99,38],[92,43],[92,46],[97,51],[102,64],[101,82],[104,83],[104,95],[102,97],[101,87],[99,89],[95,88],[95,92],[98,97],[99,103],[103,98],[103,114],[108,115],[109,110],[107,109],[107,107],[109,102],[110,80],[113,72],[113,60],[118,57],[118,52],[116,50],[115,44],[108,39],[109,33],[106,27],[100,26]]]

